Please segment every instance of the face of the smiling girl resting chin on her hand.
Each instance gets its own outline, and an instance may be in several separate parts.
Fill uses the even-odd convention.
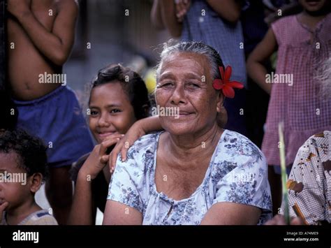
[[[136,121],[133,107],[120,82],[91,90],[89,129],[98,143],[113,133],[126,133]]]

